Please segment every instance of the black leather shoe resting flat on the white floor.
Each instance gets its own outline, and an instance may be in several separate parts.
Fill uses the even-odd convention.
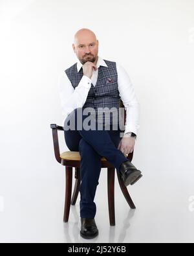
[[[98,235],[98,228],[94,218],[81,218],[80,235],[83,239],[94,239]]]

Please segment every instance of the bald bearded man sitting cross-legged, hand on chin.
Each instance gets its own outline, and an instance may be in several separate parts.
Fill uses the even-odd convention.
[[[69,150],[80,151],[81,156],[80,235],[85,239],[91,239],[98,235],[94,220],[96,215],[94,196],[100,176],[101,157],[105,157],[116,168],[126,186],[133,185],[142,177],[140,170],[137,170],[125,157],[133,152],[135,146],[139,128],[138,102],[124,68],[98,56],[98,40],[94,32],[89,29],[78,30],[72,48],[79,62],[62,73],[59,89],[65,118],[65,142]],[[119,113],[120,99],[127,114],[122,139],[120,139],[118,119],[116,122],[113,120],[113,116],[117,115],[115,113]],[[89,116],[83,113],[87,108],[91,109]],[[111,113],[112,109],[116,110],[113,111],[112,119],[109,119],[109,130],[96,128],[97,124],[107,128],[103,115],[101,119],[98,116],[100,108],[108,110],[106,113]],[[91,122],[95,121],[94,129],[83,127],[87,126],[85,121],[88,117],[91,117]],[[78,128],[80,126],[78,122],[81,122],[81,129]],[[69,123],[74,124],[74,128],[71,126],[68,130]]]

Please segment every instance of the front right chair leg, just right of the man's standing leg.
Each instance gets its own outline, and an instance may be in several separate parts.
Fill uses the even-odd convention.
[[[109,202],[109,221],[111,226],[115,226],[114,214],[114,168],[108,168],[107,177],[108,202]]]

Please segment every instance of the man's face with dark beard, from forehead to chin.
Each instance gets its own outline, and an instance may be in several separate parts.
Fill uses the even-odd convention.
[[[95,62],[98,58],[98,40],[93,36],[80,36],[72,45],[81,64]]]

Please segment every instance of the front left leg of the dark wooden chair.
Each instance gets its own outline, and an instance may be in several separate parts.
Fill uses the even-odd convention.
[[[72,167],[65,167],[65,209],[63,222],[68,222],[69,220],[69,210],[70,210],[70,198],[72,192]]]

